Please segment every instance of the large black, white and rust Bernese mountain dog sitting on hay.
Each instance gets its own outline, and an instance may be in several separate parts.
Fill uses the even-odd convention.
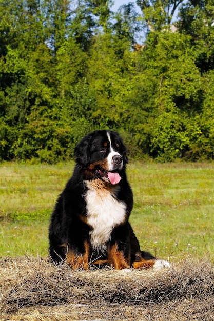
[[[110,266],[148,269],[169,266],[140,250],[128,221],[133,195],[128,158],[120,135],[97,130],[75,147],[76,165],[51,216],[49,251],[72,269]]]

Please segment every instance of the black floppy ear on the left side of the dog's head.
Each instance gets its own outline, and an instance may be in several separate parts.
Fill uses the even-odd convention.
[[[90,147],[92,141],[92,133],[86,135],[79,144],[74,148],[74,156],[76,157],[76,162],[87,165],[90,163]]]

